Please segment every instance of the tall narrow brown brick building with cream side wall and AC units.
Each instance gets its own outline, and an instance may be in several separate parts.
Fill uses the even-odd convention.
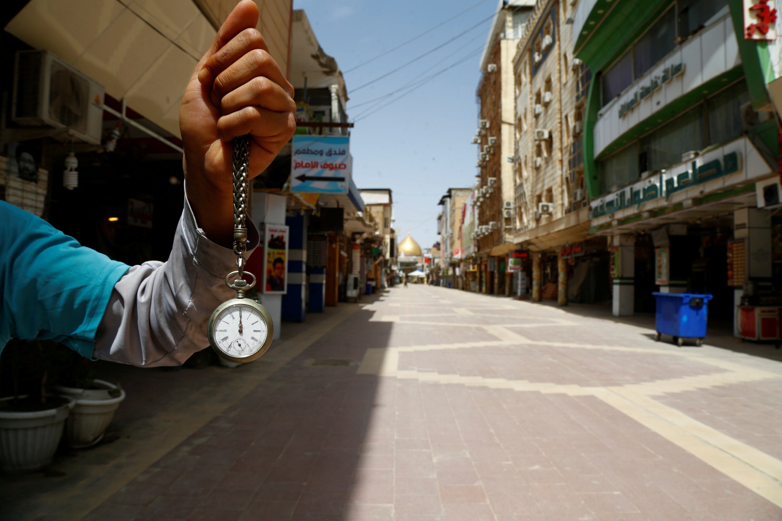
[[[514,204],[512,59],[533,5],[533,0],[500,0],[481,56],[482,73],[476,91],[480,105],[479,128],[472,141],[480,147],[475,244],[479,287],[484,293],[510,292],[504,267],[508,252],[515,248],[513,219],[505,216],[506,210],[512,210]]]

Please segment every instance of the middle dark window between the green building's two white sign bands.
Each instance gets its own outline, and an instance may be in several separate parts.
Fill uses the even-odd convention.
[[[682,160],[684,152],[705,148],[703,105],[685,112],[651,134],[640,138],[640,172],[662,170]]]

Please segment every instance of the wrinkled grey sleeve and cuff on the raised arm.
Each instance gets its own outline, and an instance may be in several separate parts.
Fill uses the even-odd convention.
[[[247,223],[245,258],[259,243]],[[134,366],[178,366],[209,346],[206,325],[217,305],[236,297],[225,276],[236,269],[233,250],[210,241],[185,209],[166,262],[127,270],[115,284],[95,337],[96,359]]]

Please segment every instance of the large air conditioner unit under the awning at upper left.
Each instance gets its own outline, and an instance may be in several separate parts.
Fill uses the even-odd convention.
[[[48,51],[16,53],[11,119],[100,145],[103,86]]]

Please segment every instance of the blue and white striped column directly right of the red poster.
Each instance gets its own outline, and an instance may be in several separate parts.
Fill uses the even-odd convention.
[[[307,307],[307,223],[303,213],[286,216],[288,239],[288,288],[282,295],[282,319],[303,322]]]

